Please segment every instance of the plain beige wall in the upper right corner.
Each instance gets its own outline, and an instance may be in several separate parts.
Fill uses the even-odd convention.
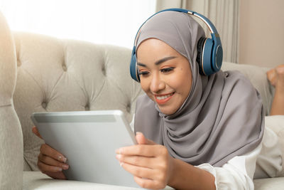
[[[283,8],[283,0],[240,0],[239,63],[284,64]]]

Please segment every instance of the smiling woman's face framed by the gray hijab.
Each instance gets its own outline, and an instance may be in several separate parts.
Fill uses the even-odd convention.
[[[185,102],[192,85],[187,58],[155,38],[143,41],[137,50],[141,88],[165,115],[175,113]]]

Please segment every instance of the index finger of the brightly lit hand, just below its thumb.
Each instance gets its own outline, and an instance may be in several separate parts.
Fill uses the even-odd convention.
[[[159,144],[137,144],[130,147],[116,149],[116,154],[137,155],[142,157],[155,157],[159,154]]]

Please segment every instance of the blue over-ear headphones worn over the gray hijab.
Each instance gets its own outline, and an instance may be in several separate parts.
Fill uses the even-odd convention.
[[[216,73],[220,70],[222,66],[223,60],[223,49],[220,40],[220,36],[217,32],[217,29],[213,25],[209,19],[207,19],[202,14],[197,14],[195,11],[189,11],[186,9],[165,9],[163,11],[159,11],[156,14],[164,11],[178,11],[186,14],[190,14],[192,16],[196,16],[197,18],[201,19],[206,26],[209,28],[212,38],[204,38],[201,37],[197,43],[197,63],[200,67],[200,74],[202,75],[211,75]],[[150,16],[146,21],[151,19],[156,14]],[[144,23],[146,23],[146,21]],[[143,23],[143,24],[144,24]],[[143,24],[140,26],[138,32],[135,36],[134,46],[131,54],[131,63],[130,63],[130,75],[131,78],[140,82],[140,78],[138,75],[138,68],[137,68],[137,61],[136,61],[136,43],[137,43],[137,36],[140,33]]]

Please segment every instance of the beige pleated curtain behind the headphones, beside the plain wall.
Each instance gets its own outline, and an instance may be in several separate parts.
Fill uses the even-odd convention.
[[[217,28],[224,51],[223,60],[239,62],[239,0],[157,0],[156,11],[182,8],[206,16]],[[209,30],[197,20],[209,36]]]

